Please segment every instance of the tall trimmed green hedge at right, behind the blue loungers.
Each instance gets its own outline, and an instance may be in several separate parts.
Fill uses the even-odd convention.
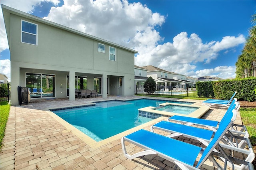
[[[256,77],[212,81],[216,99],[230,99],[235,91],[238,101],[256,101]]]

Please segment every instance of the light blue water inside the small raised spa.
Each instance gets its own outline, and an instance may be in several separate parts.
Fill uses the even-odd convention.
[[[190,113],[196,111],[197,107],[186,107],[186,106],[177,106],[177,105],[168,105],[165,107],[158,108],[158,111],[166,111],[172,113],[179,113],[183,115],[189,115]]]

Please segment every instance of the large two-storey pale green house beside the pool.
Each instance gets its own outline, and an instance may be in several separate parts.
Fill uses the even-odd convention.
[[[77,30],[2,6],[10,49],[11,103],[18,86],[31,98],[75,100],[75,89],[107,95],[134,95],[134,53]]]

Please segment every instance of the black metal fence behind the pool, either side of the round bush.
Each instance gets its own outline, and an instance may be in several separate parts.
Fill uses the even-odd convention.
[[[135,85],[134,93],[137,94],[148,94],[144,91],[143,85]],[[152,95],[161,96],[182,96],[182,97],[198,97],[195,87],[185,87],[185,86],[163,86],[156,85],[156,91]]]

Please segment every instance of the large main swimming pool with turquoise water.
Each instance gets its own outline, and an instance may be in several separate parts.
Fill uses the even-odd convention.
[[[168,102],[193,104],[180,101]],[[114,100],[95,103],[94,106],[64,108],[52,112],[98,142],[153,120],[139,116],[138,109],[146,106],[159,107],[162,103],[166,103],[166,100]]]

